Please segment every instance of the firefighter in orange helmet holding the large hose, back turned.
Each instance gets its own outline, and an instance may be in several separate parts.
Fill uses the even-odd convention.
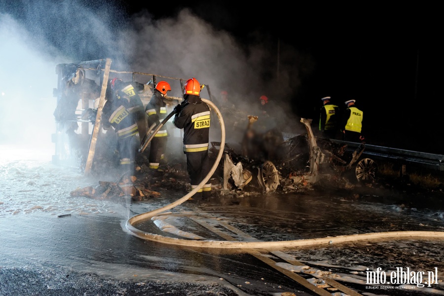
[[[194,189],[210,172],[208,155],[210,108],[200,98],[203,88],[196,78],[185,82],[184,102],[174,108],[176,112],[173,124],[184,129],[184,153],[186,169],[190,178],[191,188]],[[207,199],[211,196],[211,184],[205,184],[195,198]]]

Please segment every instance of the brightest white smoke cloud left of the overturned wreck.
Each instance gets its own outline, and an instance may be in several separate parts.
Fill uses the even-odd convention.
[[[29,33],[0,14],[0,143],[40,146],[55,132],[55,64],[34,49]]]

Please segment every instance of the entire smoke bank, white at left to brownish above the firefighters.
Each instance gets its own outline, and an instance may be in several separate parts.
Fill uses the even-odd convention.
[[[0,3],[0,143],[53,148],[56,65],[104,58],[115,70],[196,77],[212,93],[202,97],[218,105],[226,90],[251,115],[265,94],[284,127],[303,132],[294,98],[300,77],[313,71],[311,57],[271,36],[251,36],[240,42],[187,8],[155,19],[146,9],[129,15],[118,1]],[[182,95],[178,82],[172,88],[171,95]]]

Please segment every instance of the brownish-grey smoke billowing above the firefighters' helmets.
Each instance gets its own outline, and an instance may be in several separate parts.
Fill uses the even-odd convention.
[[[183,79],[195,77],[211,89],[212,98],[205,91],[202,97],[218,105],[220,93],[225,90],[239,111],[251,115],[261,113],[259,97],[265,94],[277,110],[281,126],[288,132],[304,132],[295,114],[297,110],[293,109],[299,77],[313,71],[310,56],[299,54],[288,44],[279,44],[280,71],[277,75],[278,44],[270,36],[258,34],[250,43],[240,43],[187,8],[175,17],[159,20],[153,20],[147,11],[142,11],[133,16],[133,23],[134,26],[122,32],[119,39],[131,53],[129,66],[135,71]],[[171,94],[181,96],[179,82],[172,83],[175,84],[172,84]],[[244,124],[238,129],[246,128],[246,114]]]

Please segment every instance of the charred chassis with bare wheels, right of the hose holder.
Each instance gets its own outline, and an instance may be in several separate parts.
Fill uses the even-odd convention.
[[[229,190],[228,184],[241,190],[247,184],[254,184],[265,193],[273,192],[278,189],[282,176],[288,176],[294,184],[303,185],[314,184],[323,175],[332,173],[359,183],[375,180],[378,170],[376,162],[371,158],[361,157],[365,143],[349,151],[346,144],[316,139],[311,121],[301,118],[300,122],[304,124],[307,133],[294,136],[276,146],[273,153],[275,157],[271,159],[247,157],[244,148],[242,152],[237,152],[226,143],[224,157],[217,171],[218,176],[223,179],[222,190]],[[218,147],[220,142],[211,142],[212,155],[217,155]]]

